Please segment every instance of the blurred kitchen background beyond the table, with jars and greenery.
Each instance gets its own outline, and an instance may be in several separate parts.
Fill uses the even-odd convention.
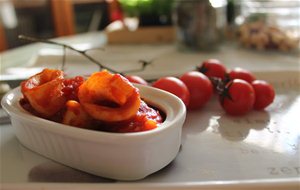
[[[289,51],[299,47],[299,15],[299,0],[0,0],[0,51],[28,43],[19,34],[54,38],[102,31],[116,21],[132,30],[176,28],[184,46],[236,39]]]

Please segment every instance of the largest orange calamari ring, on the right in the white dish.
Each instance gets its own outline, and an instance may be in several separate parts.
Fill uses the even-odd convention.
[[[94,73],[78,91],[84,110],[94,119],[118,122],[132,118],[140,107],[140,94],[126,78],[108,71]]]

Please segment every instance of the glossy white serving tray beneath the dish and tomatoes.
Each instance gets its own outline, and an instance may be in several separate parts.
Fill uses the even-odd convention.
[[[45,60],[43,58],[46,57],[36,60]],[[177,68],[177,73],[174,69],[173,74],[193,68],[196,56],[189,60],[193,63],[187,62],[186,67]],[[39,62],[35,64],[39,65]],[[202,110],[188,112],[182,148],[176,159],[161,171],[139,181],[111,181],[55,163],[24,148],[17,141],[11,125],[2,125],[0,187],[299,189],[299,69],[280,71],[253,67],[253,70],[257,78],[271,82],[276,89],[275,102],[270,107],[244,117],[229,117],[214,98]],[[144,76],[150,76],[147,72],[150,71]]]

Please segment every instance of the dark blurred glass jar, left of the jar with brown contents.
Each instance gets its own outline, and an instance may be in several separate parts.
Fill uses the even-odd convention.
[[[180,50],[215,50],[226,26],[226,0],[177,0],[174,7]]]

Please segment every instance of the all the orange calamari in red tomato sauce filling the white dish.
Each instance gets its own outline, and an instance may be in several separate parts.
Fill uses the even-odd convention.
[[[23,81],[21,92],[20,104],[27,111],[74,127],[139,132],[155,129],[164,120],[125,77],[106,70],[85,80],[66,79],[63,71],[44,69]]]

